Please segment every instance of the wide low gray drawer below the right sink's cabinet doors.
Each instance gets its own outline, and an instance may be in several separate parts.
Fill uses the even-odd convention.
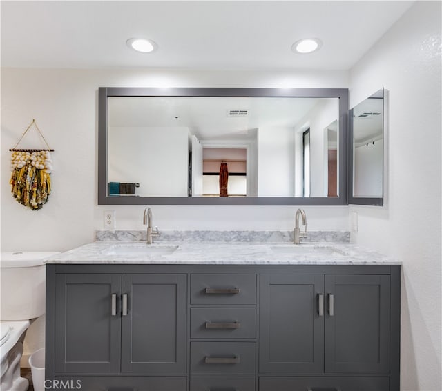
[[[260,377],[260,391],[389,391],[388,377]]]

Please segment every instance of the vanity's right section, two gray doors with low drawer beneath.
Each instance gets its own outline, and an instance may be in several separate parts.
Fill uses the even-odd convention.
[[[260,391],[390,390],[390,292],[385,274],[261,275]]]

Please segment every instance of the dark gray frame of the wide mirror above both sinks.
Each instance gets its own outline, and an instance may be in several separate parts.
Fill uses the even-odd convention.
[[[339,197],[109,197],[108,97],[305,97],[339,99]],[[347,88],[124,88],[98,89],[99,205],[347,205]]]

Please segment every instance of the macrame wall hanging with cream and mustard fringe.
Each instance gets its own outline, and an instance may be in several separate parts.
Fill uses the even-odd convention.
[[[48,148],[23,149],[17,148],[20,141],[25,137],[30,128],[34,126],[39,132],[41,139]],[[52,159],[46,139],[40,132],[35,119],[21,135],[14,148],[10,148],[12,174],[10,179],[12,197],[17,202],[32,210],[39,210],[48,202],[50,194],[50,172],[52,172]]]

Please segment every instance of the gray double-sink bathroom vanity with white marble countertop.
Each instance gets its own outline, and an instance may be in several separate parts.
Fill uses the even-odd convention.
[[[399,390],[400,263],[349,244],[95,242],[47,268],[46,379]]]

